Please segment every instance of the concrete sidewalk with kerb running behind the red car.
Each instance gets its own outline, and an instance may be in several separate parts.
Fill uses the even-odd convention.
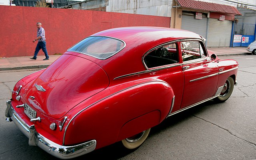
[[[234,48],[208,48],[214,51],[217,56],[232,56],[250,54],[246,50],[246,47],[234,47]],[[33,69],[33,68],[46,68],[61,55],[50,55],[49,60],[43,60],[45,56],[37,56],[36,60],[31,60],[30,57],[10,57],[0,58],[0,71],[3,70],[20,70],[20,69]]]

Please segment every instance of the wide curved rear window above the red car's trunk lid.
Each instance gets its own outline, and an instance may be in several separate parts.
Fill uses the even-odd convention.
[[[115,38],[92,36],[81,40],[69,48],[68,51],[79,52],[105,60],[122,50],[124,46],[123,41]]]

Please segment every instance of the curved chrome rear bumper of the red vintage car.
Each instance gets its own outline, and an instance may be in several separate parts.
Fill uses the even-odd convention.
[[[82,156],[83,154],[92,152],[96,148],[96,140],[91,140],[75,146],[61,146],[59,144],[56,144],[36,132],[36,128],[34,125],[28,126],[28,124],[26,124],[13,110],[11,106],[11,100],[8,100],[6,102],[6,105],[7,108],[5,111],[5,116],[8,117],[6,118],[6,120],[8,122],[13,121],[16,126],[22,131],[22,133],[29,138],[28,144],[30,146],[38,146],[52,156],[61,159],[70,159]]]

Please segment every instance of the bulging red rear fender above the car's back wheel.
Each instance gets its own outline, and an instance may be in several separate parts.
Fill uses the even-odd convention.
[[[168,116],[173,96],[172,88],[163,81],[144,82],[112,93],[83,106],[69,120],[64,144],[96,140],[97,149],[152,128]]]

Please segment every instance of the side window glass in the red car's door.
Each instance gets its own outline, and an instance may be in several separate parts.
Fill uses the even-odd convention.
[[[180,44],[183,62],[206,57],[206,53],[199,41],[186,41]]]

